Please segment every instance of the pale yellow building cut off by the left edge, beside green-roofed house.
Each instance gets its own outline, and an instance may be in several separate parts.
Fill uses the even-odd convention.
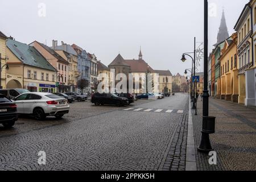
[[[0,69],[2,69],[1,72],[1,85],[0,87],[5,89],[6,88],[6,66],[4,66],[6,64],[6,40],[7,37],[0,31]]]

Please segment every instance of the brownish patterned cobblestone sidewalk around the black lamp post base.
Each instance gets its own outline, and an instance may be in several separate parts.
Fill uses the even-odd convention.
[[[200,145],[202,106],[199,115],[193,111],[195,144]],[[255,170],[256,169],[256,110],[230,101],[210,98],[209,115],[216,117],[216,133],[210,135],[217,165],[210,166],[208,155],[196,151],[198,170]]]

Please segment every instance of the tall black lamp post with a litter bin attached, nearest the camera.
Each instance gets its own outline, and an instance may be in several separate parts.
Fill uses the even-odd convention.
[[[209,117],[209,90],[208,90],[208,1],[204,0],[204,94],[203,94],[203,131],[199,152],[212,151],[209,134],[214,133],[215,117]]]

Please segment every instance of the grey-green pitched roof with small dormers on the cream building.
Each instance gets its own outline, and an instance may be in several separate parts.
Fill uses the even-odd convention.
[[[56,69],[53,68],[52,65],[49,64],[49,62],[34,47],[11,39],[8,39],[6,44],[11,52],[13,52],[14,55],[24,64],[56,71]]]

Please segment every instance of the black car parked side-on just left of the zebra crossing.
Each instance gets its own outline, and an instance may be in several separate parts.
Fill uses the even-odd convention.
[[[112,93],[95,93],[92,96],[92,103],[96,106],[98,105],[116,105],[116,106],[124,106],[129,105],[129,100],[125,97],[118,97]]]

